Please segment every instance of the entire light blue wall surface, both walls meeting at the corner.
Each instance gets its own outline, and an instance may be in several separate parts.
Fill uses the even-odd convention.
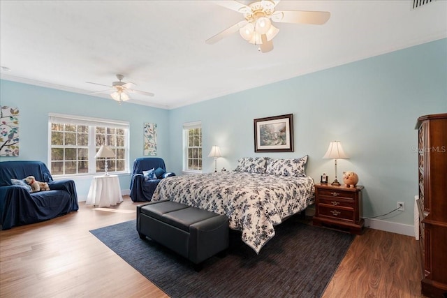
[[[299,57],[297,57],[299,59]],[[223,82],[224,84],[224,82]],[[221,147],[218,167],[233,170],[243,156],[293,158],[309,154],[307,174],[334,178],[334,162],[324,160],[328,144],[340,140],[350,159],[342,171],[353,170],[365,186],[364,216],[384,214],[406,203],[406,211],[386,218],[413,224],[417,194],[416,119],[447,112],[447,39],[383,54],[291,80],[161,110],[82,94],[0,80],[0,104],[20,108],[20,160],[47,161],[48,112],[118,119],[131,124],[131,161],[142,156],[142,124],[158,125],[158,156],[168,170],[182,172],[182,124],[202,121],[204,172],[212,145]],[[254,153],[253,119],[293,114],[295,152]],[[18,158],[1,158],[1,161]],[[120,177],[129,189],[129,175]],[[80,198],[91,178],[77,179]],[[382,218],[383,219],[383,218]]]

